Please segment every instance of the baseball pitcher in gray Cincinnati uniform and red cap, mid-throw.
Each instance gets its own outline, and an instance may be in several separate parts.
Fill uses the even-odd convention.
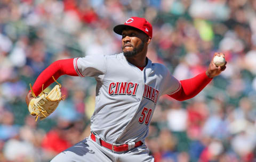
[[[226,69],[226,63],[216,66],[212,60],[207,71],[179,81],[164,65],[147,58],[153,29],[146,19],[131,17],[114,27],[114,32],[122,35],[123,53],[56,61],[38,76],[26,97],[31,115],[45,118],[51,112],[44,108],[46,100],[42,103],[43,99],[36,96],[54,78],[66,74],[91,76],[97,81],[90,137],[61,152],[52,162],[154,161],[145,138],[159,97],[167,94],[180,101],[192,98]],[[215,55],[225,57],[222,53]]]

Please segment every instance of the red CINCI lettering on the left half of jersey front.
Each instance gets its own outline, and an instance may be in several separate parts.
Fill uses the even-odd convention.
[[[111,82],[109,84],[109,95],[133,95],[136,96],[138,83],[133,82]]]

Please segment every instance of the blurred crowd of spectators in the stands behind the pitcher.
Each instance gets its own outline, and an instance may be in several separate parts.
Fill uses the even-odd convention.
[[[179,80],[204,72],[215,52],[228,62],[195,98],[159,100],[146,139],[155,161],[256,161],[256,1],[1,0],[1,162],[50,161],[90,134],[94,79],[61,76],[66,99],[38,122],[29,83],[58,59],[122,52],[113,27],[131,16],[153,24],[148,57]]]

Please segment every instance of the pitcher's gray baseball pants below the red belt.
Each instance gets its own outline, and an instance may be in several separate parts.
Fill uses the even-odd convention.
[[[154,162],[145,144],[124,152],[113,152],[90,137],[55,156],[51,162]]]

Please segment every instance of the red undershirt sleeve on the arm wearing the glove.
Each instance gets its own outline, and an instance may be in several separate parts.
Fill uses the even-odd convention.
[[[39,95],[42,91],[42,85],[44,84],[44,89],[50,86],[51,83],[54,82],[54,79],[57,80],[61,75],[71,75],[78,76],[75,71],[74,58],[70,59],[61,59],[59,61],[53,62],[50,66],[48,66],[36,79],[34,86],[32,87],[36,96]]]

